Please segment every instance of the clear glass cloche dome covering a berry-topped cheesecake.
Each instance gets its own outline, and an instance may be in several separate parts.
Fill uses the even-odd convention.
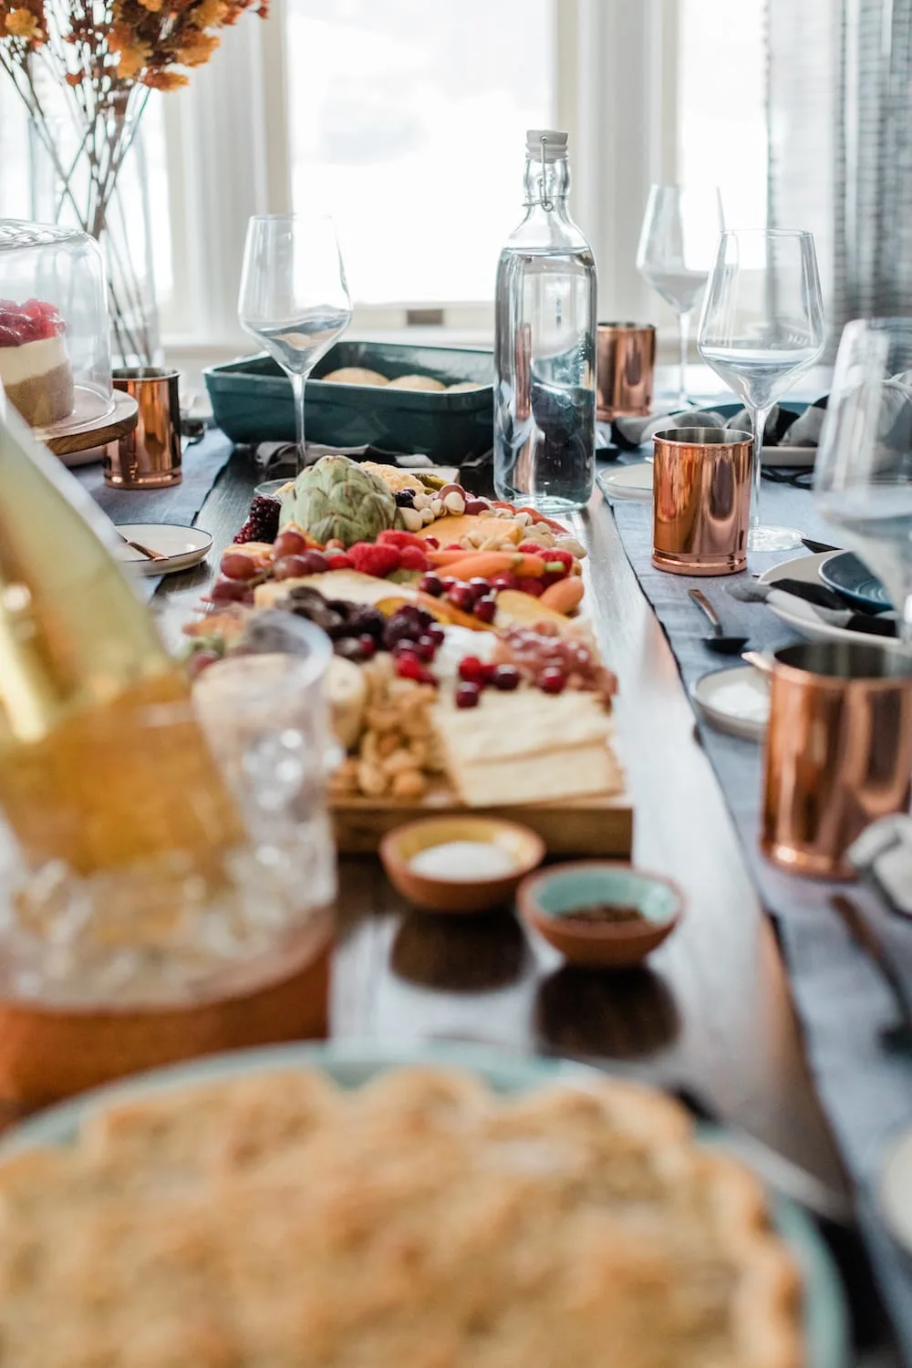
[[[40,436],[113,410],[104,261],[88,234],[0,219],[0,384]]]

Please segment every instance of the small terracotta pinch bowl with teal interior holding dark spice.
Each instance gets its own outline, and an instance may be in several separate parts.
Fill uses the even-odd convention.
[[[577,860],[552,865],[524,878],[518,891],[520,911],[528,926],[574,964],[626,969],[639,964],[684,912],[677,884],[613,860]],[[636,907],[636,922],[582,922],[570,914],[593,906]]]

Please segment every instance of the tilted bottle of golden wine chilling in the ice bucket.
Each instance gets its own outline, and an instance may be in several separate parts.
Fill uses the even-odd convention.
[[[115,536],[0,386],[0,813],[30,863],[81,874],[241,833]]]

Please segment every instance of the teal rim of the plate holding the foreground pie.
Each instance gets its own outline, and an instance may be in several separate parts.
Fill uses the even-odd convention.
[[[268,1073],[275,1068],[323,1068],[340,1088],[360,1088],[376,1074],[407,1064],[465,1068],[495,1093],[525,1093],[548,1083],[585,1085],[600,1077],[585,1064],[561,1059],[510,1056],[476,1045],[416,1045],[384,1049],[373,1044],[327,1041],[313,1045],[273,1045],[267,1049],[213,1055],[141,1074],[72,1101],[52,1107],[7,1133],[0,1161],[29,1149],[75,1142],[83,1118],[111,1103],[168,1092],[186,1083]],[[700,1126],[703,1144],[725,1149],[725,1130]],[[804,1279],[805,1368],[848,1368],[849,1321],[840,1276],[830,1253],[808,1216],[783,1197],[771,1196],[773,1222],[789,1245]]]

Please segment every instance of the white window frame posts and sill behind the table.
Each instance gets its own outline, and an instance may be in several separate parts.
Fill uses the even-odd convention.
[[[599,267],[599,315],[654,317],[655,297],[633,267],[652,181],[678,160],[680,0],[555,0],[555,120],[570,134],[573,215]],[[271,18],[245,16],[186,90],[164,101],[174,294],[180,327],[168,356],[189,368],[250,350],[237,320],[246,223],[291,208],[286,0]],[[521,155],[521,153],[518,153]],[[485,341],[492,305],[448,305],[443,327],[407,335]],[[351,334],[402,335],[406,305],[357,306]],[[673,319],[667,327],[674,345]]]

